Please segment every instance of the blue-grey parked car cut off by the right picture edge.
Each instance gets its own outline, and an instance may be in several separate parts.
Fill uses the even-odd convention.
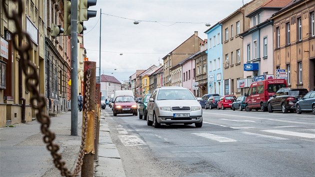
[[[296,113],[313,112],[315,114],[315,91],[309,91],[295,104]]]

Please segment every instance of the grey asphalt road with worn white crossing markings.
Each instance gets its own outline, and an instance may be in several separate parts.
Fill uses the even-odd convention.
[[[315,176],[311,113],[203,109],[201,128],[154,128],[102,111],[126,176]]]

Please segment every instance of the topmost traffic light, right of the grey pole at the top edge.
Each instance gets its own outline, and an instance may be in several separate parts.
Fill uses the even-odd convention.
[[[90,17],[96,16],[96,10],[88,10],[89,6],[96,5],[97,0],[80,0],[79,1],[79,21],[86,21]]]

